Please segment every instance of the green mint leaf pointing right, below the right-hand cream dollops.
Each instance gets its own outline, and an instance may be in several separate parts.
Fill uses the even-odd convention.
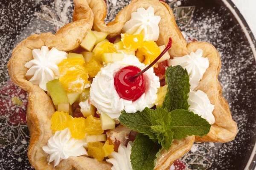
[[[170,112],[174,125],[171,127],[174,132],[173,139],[181,140],[186,136],[204,136],[210,131],[211,125],[206,119],[198,114],[183,109]]]

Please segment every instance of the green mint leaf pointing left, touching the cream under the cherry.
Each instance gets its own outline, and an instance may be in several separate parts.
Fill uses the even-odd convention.
[[[122,114],[119,116],[119,121],[131,130],[148,135],[150,139],[156,141],[156,135],[151,132],[153,112],[154,110],[150,108],[145,108],[142,112],[138,111],[136,113],[126,113],[122,111]]]

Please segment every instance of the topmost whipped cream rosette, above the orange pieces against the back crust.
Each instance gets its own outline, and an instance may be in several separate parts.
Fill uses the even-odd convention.
[[[128,34],[143,34],[144,41],[157,41],[159,37],[159,22],[160,16],[154,15],[154,8],[148,7],[138,8],[136,12],[131,14],[131,19],[125,23],[122,32]]]

